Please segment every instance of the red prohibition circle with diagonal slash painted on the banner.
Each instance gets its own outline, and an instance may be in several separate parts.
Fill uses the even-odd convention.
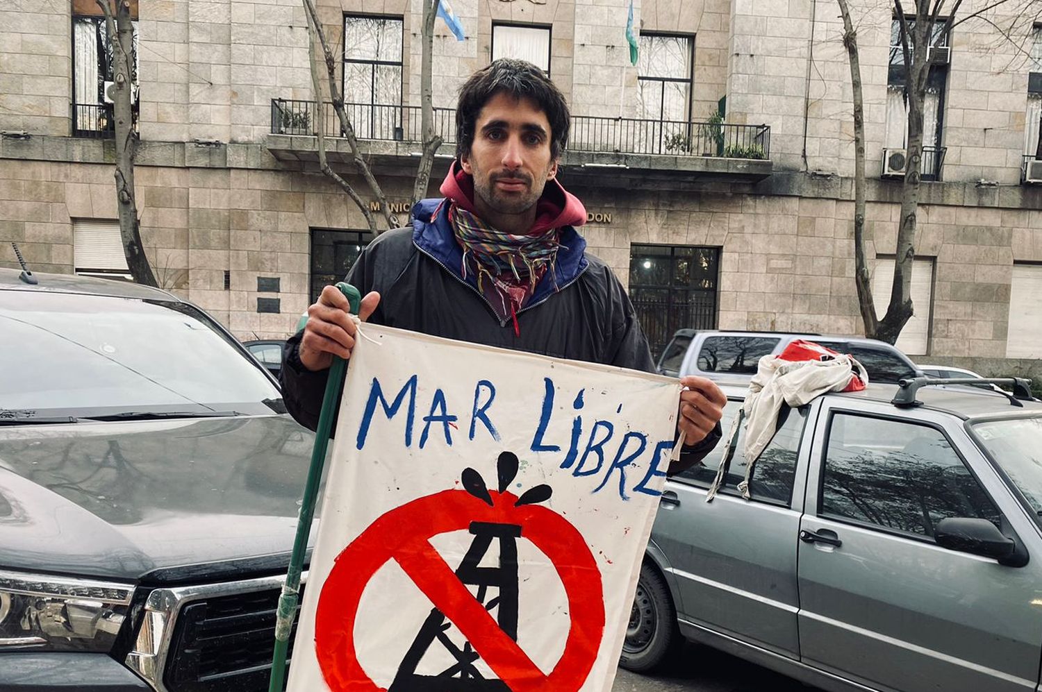
[[[319,594],[315,652],[333,692],[384,692],[362,668],[354,624],[362,593],[376,571],[394,560],[513,692],[575,692],[597,659],[604,633],[604,598],[597,562],[567,519],[537,505],[515,507],[517,496],[491,491],[493,506],[466,490],[445,490],[393,509],[338,556]],[[466,531],[471,521],[514,523],[553,564],[565,588],[571,619],[565,650],[544,674],[511,639],[429,539]]]

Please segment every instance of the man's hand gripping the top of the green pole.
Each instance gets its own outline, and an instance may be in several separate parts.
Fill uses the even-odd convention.
[[[358,305],[358,318],[369,319],[380,302],[375,290],[367,293]],[[349,313],[347,297],[336,286],[326,286],[314,305],[307,308],[307,323],[300,339],[300,362],[309,370],[324,370],[332,357],[347,360],[354,348],[355,326]]]

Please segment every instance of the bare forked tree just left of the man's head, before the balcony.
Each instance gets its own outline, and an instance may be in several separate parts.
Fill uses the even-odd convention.
[[[420,163],[413,187],[414,203],[426,195],[427,185],[430,182],[430,171],[433,168],[435,154],[437,153],[438,148],[442,145],[442,137],[435,134],[432,105],[433,91],[431,88],[430,67],[433,53],[433,29],[435,19],[437,18],[438,11],[438,2],[439,0],[423,0],[423,53],[420,75],[423,152],[420,157]],[[354,168],[366,181],[370,191],[379,203],[380,211],[383,214],[383,221],[387,224],[387,229],[396,228],[398,226],[398,220],[391,212],[387,196],[383,194],[383,189],[380,187],[379,182],[377,182],[376,177],[373,175],[369,163],[358,151],[358,139],[354,131],[354,126],[351,123],[351,119],[347,114],[347,109],[344,107],[344,93],[337,79],[337,59],[334,58],[332,50],[329,47],[329,42],[326,40],[325,31],[322,29],[322,23],[319,21],[318,11],[315,8],[315,2],[314,0],[303,0],[303,3],[304,10],[307,14],[312,85],[315,91],[316,101],[316,114],[313,119],[313,126],[318,139],[319,165],[321,166],[322,172],[331,178],[348,195],[348,197],[351,198],[351,201],[354,202],[354,204],[362,211],[363,215],[366,217],[369,230],[372,231],[373,234],[378,234],[382,230],[386,230],[379,227],[376,217],[372,214],[369,206],[358,195],[357,190],[355,190],[343,176],[339,175],[336,171],[333,171],[332,166],[329,165],[325,150],[325,133],[323,132],[324,123],[321,116],[322,88],[321,79],[319,77],[320,68],[315,56],[316,43],[322,48],[322,58],[325,65],[329,99],[332,102],[337,119],[340,121],[341,132],[347,139],[348,148],[350,149],[351,162],[354,164]]]

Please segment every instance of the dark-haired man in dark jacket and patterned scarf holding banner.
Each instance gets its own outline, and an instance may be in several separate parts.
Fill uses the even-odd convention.
[[[556,180],[570,114],[536,66],[500,59],[463,85],[456,160],[444,199],[414,207],[412,228],[363,251],[347,281],[364,294],[362,322],[555,358],[653,371],[647,340],[618,278],[585,252],[587,213]],[[357,331],[344,296],[326,286],[288,341],[282,392],[315,429],[332,356],[350,358]],[[726,399],[710,380],[681,378],[679,461],[720,439]]]

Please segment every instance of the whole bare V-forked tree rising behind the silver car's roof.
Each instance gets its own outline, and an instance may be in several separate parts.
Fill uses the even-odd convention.
[[[996,7],[1011,0],[994,0],[975,11],[960,15],[963,0],[912,0],[912,11],[905,11],[901,0],[893,0],[894,22],[897,26],[899,46],[891,51],[892,66],[903,66],[903,97],[908,110],[908,131],[905,138],[904,179],[901,185],[901,213],[897,230],[894,279],[890,289],[890,300],[886,314],[877,316],[869,282],[868,261],[865,247],[865,122],[864,98],[862,96],[861,66],[858,54],[858,34],[850,17],[847,0],[837,0],[843,18],[843,45],[847,50],[850,65],[850,81],[853,87],[854,123],[854,283],[858,288],[858,303],[865,335],[894,343],[904,325],[914,314],[912,304],[912,260],[915,258],[915,232],[919,207],[919,187],[922,178],[923,123],[926,91],[933,66],[932,52],[941,48],[953,27],[971,19],[977,19],[997,31],[997,35],[1016,44],[1026,37],[1019,36],[1023,18],[1028,14],[1016,12],[1008,27],[996,24],[990,14]],[[1038,0],[1021,0],[1026,9],[1038,4]],[[1029,22],[1028,22],[1029,24]]]

